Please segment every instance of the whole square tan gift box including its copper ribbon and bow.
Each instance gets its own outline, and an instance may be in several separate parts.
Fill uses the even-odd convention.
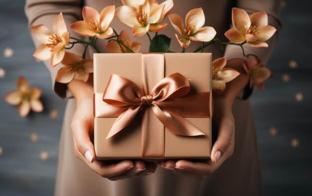
[[[211,68],[211,53],[94,54],[96,159],[209,159]]]

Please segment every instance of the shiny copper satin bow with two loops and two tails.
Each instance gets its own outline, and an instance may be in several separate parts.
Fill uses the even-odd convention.
[[[160,80],[148,95],[133,81],[112,74],[104,91],[103,101],[120,107],[121,110],[124,110],[124,107],[128,109],[117,118],[106,139],[123,130],[145,107],[152,107],[157,119],[175,135],[205,135],[170,108],[170,105],[178,108],[176,104],[168,104],[170,99],[187,97],[189,91],[189,81],[180,73],[173,73]]]

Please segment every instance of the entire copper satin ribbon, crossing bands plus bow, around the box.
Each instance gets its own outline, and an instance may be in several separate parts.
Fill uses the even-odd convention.
[[[205,135],[182,116],[211,117],[212,95],[208,91],[189,93],[189,81],[180,73],[163,78],[163,54],[142,55],[143,88],[125,77],[112,74],[104,93],[94,95],[95,117],[118,117],[106,137],[108,139],[122,131],[142,111],[141,157],[163,158],[164,126],[175,135]],[[151,69],[162,70],[162,73],[153,73]],[[158,81],[157,77],[162,79]]]

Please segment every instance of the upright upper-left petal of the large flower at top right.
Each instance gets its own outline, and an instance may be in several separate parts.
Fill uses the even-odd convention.
[[[246,29],[251,25],[247,12],[236,7],[232,8],[232,23],[242,34],[245,34]]]

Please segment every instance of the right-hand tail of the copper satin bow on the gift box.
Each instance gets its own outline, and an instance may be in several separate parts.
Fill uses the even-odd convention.
[[[152,103],[152,109],[157,119],[167,127],[173,134],[181,136],[199,136],[205,135],[190,122],[185,120],[178,113],[170,108],[163,106],[159,102]]]

